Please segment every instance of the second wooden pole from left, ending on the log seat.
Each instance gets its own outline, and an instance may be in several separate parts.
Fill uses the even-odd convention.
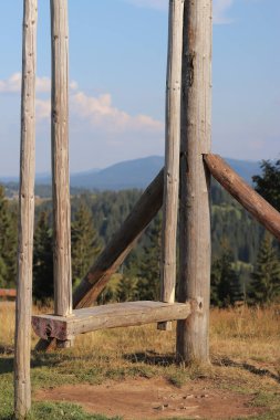
[[[68,0],[51,0],[54,311],[72,312]]]

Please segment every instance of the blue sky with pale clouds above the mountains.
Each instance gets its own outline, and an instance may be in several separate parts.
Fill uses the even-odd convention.
[[[1,3],[0,176],[18,175],[22,0]],[[163,155],[167,0],[69,0],[71,171]],[[212,149],[280,157],[280,1],[214,0]],[[39,0],[37,171],[50,170],[49,0]]]

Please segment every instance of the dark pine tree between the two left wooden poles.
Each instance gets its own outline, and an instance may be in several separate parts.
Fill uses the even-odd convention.
[[[46,303],[53,298],[53,246],[48,213],[42,211],[34,234],[33,297]]]

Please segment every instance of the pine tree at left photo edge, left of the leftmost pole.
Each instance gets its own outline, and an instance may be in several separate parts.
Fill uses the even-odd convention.
[[[17,273],[17,214],[0,186],[0,276],[4,287],[14,287]]]

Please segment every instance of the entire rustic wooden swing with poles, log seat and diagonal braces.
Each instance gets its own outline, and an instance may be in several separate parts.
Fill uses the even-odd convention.
[[[14,412],[31,407],[30,323],[34,224],[37,0],[23,0],[21,170],[15,309]],[[68,0],[51,0],[52,186],[54,314],[35,315],[37,349],[100,328],[177,323],[179,361],[209,361],[210,174],[280,240],[280,214],[210,154],[211,0],[169,0],[165,168],[105,246],[74,292],[72,304],[69,186]],[[180,193],[178,193],[178,191]],[[178,303],[175,303],[176,231],[179,206]],[[163,204],[160,302],[90,307]],[[73,309],[74,308],[74,309]]]

